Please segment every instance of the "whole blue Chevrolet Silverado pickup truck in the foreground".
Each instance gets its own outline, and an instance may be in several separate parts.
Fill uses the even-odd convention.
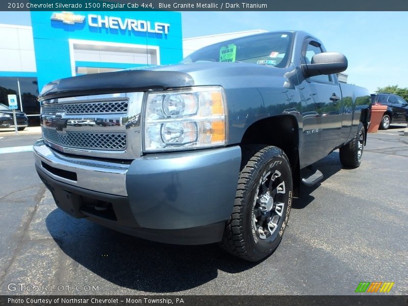
[[[368,110],[356,106],[370,94],[339,83],[346,68],[316,37],[285,31],[177,65],[57,80],[39,96],[36,169],[72,217],[259,261],[281,241],[301,183],[321,179],[313,163],[338,148],[344,166],[361,163]]]

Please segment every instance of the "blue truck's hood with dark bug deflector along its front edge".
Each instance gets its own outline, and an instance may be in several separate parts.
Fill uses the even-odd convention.
[[[167,66],[149,66],[114,72],[80,75],[60,79],[46,84],[38,99],[69,97],[91,94],[118,93],[147,90],[166,90],[208,84],[202,75],[217,74],[217,77],[249,77],[271,75],[277,69],[246,63],[191,63]],[[272,73],[274,74],[274,73]]]

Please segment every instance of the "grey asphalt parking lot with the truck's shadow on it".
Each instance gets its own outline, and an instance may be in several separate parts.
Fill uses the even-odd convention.
[[[38,285],[59,294],[349,295],[360,282],[394,282],[390,294],[406,295],[405,125],[369,134],[358,169],[342,168],[338,151],[318,162],[323,181],[303,187],[281,245],[261,263],[216,244],[149,242],[67,216],[32,152],[1,150],[40,135],[0,131],[0,293],[50,293],[30,290]]]

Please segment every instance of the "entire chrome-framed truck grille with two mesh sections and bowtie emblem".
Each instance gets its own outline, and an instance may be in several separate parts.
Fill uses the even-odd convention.
[[[143,92],[124,92],[42,99],[44,141],[76,156],[138,158],[143,98]]]

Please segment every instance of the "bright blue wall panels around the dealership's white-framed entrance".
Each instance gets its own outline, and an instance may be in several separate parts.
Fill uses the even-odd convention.
[[[40,90],[50,81],[71,77],[69,39],[159,46],[161,65],[173,64],[182,60],[182,25],[181,13],[179,12],[74,12],[75,15],[84,16],[85,18],[83,22],[73,22],[73,24],[64,23],[61,20],[52,20],[53,14],[54,12],[31,12],[37,78]],[[95,24],[97,19],[89,19],[89,15],[100,15],[103,18],[105,16],[117,17],[113,28],[119,29],[91,26],[89,21]],[[120,29],[118,20],[120,19],[123,25],[126,18],[143,20],[144,32],[143,30],[129,30],[127,27],[123,30]],[[150,27],[148,29],[145,29],[146,22],[144,21],[149,22]],[[153,32],[155,30],[155,22],[169,24],[168,33],[149,33],[149,31]],[[105,26],[105,24],[103,25]],[[142,25],[138,30],[143,29]],[[165,32],[164,27],[159,26],[157,32]],[[106,68],[140,66],[137,64],[100,63],[96,61],[77,62],[76,64]]]

